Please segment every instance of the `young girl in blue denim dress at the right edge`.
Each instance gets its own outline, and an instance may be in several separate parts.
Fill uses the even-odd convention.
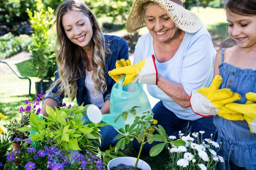
[[[228,33],[237,45],[218,51],[214,76],[221,75],[220,88],[239,93],[242,98],[236,103],[245,104],[245,94],[256,93],[256,0],[227,0],[225,10]],[[215,116],[214,124],[217,142],[222,142],[222,169],[256,170],[256,134],[250,131],[247,121]]]

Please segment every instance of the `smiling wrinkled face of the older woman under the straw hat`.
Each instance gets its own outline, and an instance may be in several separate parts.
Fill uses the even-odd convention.
[[[158,4],[145,9],[145,23],[152,37],[159,42],[168,41],[178,32],[173,20]]]

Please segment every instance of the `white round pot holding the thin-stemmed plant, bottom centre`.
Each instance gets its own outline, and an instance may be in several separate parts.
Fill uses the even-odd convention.
[[[135,158],[135,157],[117,157],[117,158],[111,159],[108,162],[108,170],[110,170],[110,168],[112,168],[112,167],[118,166],[119,164],[124,164],[127,166],[134,167],[136,160],[137,160],[137,158]],[[140,168],[141,170],[151,170],[148,163],[146,163],[145,161],[143,161],[141,159],[139,159],[137,168]]]

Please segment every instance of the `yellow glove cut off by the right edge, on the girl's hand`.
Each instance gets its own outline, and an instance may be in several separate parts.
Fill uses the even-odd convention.
[[[226,108],[242,113],[247,121],[250,131],[256,133],[256,93],[246,93],[245,98],[247,102],[245,104],[229,103],[225,104]]]

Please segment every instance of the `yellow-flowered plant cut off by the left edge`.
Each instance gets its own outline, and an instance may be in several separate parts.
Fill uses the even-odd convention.
[[[8,116],[3,115],[0,113],[0,121],[2,119],[6,119]],[[1,127],[0,127],[0,170],[3,169],[4,164],[6,163],[6,155],[8,152],[10,152],[10,146],[11,146],[11,141],[10,141],[10,135],[9,132],[5,132]]]

